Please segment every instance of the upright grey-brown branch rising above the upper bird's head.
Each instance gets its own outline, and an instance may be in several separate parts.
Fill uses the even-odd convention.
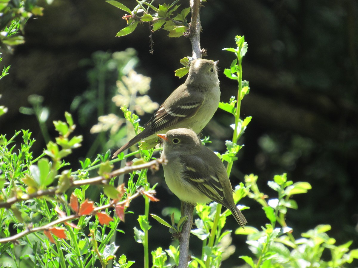
[[[192,20],[189,27],[189,39],[192,43],[193,58],[199,59],[202,57],[200,48],[200,0],[190,0],[190,10],[192,11]]]

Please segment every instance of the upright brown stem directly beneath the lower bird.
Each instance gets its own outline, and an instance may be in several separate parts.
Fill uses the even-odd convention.
[[[187,221],[183,225],[182,235],[179,238],[179,263],[178,268],[187,268],[189,257],[189,238],[190,231],[192,230],[193,225],[193,212],[194,205],[182,201],[182,217],[184,215],[188,216]]]

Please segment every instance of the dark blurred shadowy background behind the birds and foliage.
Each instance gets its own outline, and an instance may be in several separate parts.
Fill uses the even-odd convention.
[[[129,8],[136,5],[134,1],[121,2]],[[188,1],[180,3],[188,6]],[[178,79],[173,71],[182,67],[181,58],[191,55],[188,38],[169,38],[166,31],[157,31],[151,55],[148,26],[139,25],[130,35],[115,37],[125,27],[124,12],[104,0],[54,0],[52,5],[40,6],[44,15],[26,24],[25,44],[16,47],[12,55],[4,55],[4,64],[11,68],[0,82],[0,104],[9,108],[0,118],[0,131],[12,135],[14,130],[30,129],[37,139],[35,155],[45,147],[44,139],[35,116],[20,114],[19,108],[30,106],[29,95],[43,96],[54,139],[52,121],[64,120],[64,111],[71,111],[74,97],[88,88],[89,67],[80,63],[95,51],[135,48],[140,60],[136,71],[152,78],[149,95],[158,103],[183,83],[185,78]],[[294,197],[299,209],[289,211],[286,219],[294,236],[318,224],[330,224],[329,235],[337,244],[353,239],[351,248],[358,247],[357,14],[354,0],[210,0],[201,9],[201,45],[207,49],[207,59],[220,61],[222,101],[237,94],[235,82],[222,74],[233,55],[222,49],[235,46],[235,35],[245,35],[248,42],[243,78],[250,82],[251,90],[243,100],[241,114],[253,118],[241,140],[245,147],[231,173],[232,184],[254,173],[261,190],[270,197],[274,192],[267,181],[275,174],[286,172],[293,182],[309,182],[313,189]],[[73,115],[77,121],[76,112]],[[141,122],[147,119],[149,115]],[[76,133],[84,135],[84,142],[68,159],[71,163],[78,163],[87,153],[95,139],[89,129],[96,122],[94,113],[90,124],[78,125]],[[218,110],[204,129],[204,135],[213,140],[213,150],[224,151],[224,140],[232,136],[232,123],[232,116]],[[179,208],[162,171],[149,181],[159,182],[156,190],[161,200],[151,204],[150,213],[160,215],[168,205]],[[241,203],[251,207],[244,212],[248,225],[260,228],[267,222],[257,203],[248,198]],[[126,234],[118,235],[118,253],[135,259],[140,267],[142,245],[133,239],[133,226],[138,225],[137,214],[144,211],[143,200],[134,200],[130,210],[135,214],[127,214],[126,222],[120,223]],[[150,223],[150,250],[167,248],[171,243],[167,228],[154,220]],[[235,224],[230,219],[228,227],[235,229]],[[233,239],[236,253],[231,263],[241,264],[238,256],[247,254],[248,246],[245,237],[233,235]],[[197,237],[192,237],[190,248],[198,254],[195,248],[199,250],[201,242]]]

